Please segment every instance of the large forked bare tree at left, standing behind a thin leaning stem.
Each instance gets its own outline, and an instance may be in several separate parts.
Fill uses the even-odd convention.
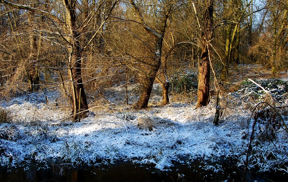
[[[82,82],[82,59],[83,59],[83,52],[89,47],[91,42],[94,38],[97,37],[100,30],[105,26],[106,20],[109,17],[112,9],[115,7],[117,0],[109,2],[109,1],[99,1],[94,5],[93,11],[89,13],[83,22],[78,22],[78,6],[76,0],[63,0],[62,5],[65,8],[64,21],[62,17],[59,16],[57,11],[49,9],[49,11],[44,11],[40,8],[31,7],[29,3],[27,5],[21,5],[16,3],[11,3],[9,1],[1,0],[0,3],[8,5],[10,7],[18,8],[18,9],[25,9],[31,11],[33,13],[37,13],[39,16],[45,17],[46,19],[53,22],[54,26],[56,27],[57,34],[60,34],[60,37],[63,39],[67,45],[62,45],[64,50],[66,50],[66,64],[68,69],[68,75],[71,82],[71,100],[72,100],[72,114],[73,120],[76,121],[78,117],[85,117],[85,112],[82,112],[80,115],[76,114],[80,111],[86,111],[88,109],[88,103],[86,100],[86,94],[84,91],[84,86]],[[81,42],[82,34],[85,34],[85,30],[87,26],[91,23],[94,19],[98,10],[102,10],[101,7],[103,5],[107,5],[107,15],[103,18],[100,24],[92,31],[94,32],[86,42]],[[83,3],[81,4],[83,5]],[[85,5],[85,3],[84,3]],[[87,5],[86,5],[87,6]],[[85,14],[85,13],[84,13]],[[64,28],[64,32],[60,30],[59,27],[62,26]],[[83,39],[82,39],[83,41]]]

